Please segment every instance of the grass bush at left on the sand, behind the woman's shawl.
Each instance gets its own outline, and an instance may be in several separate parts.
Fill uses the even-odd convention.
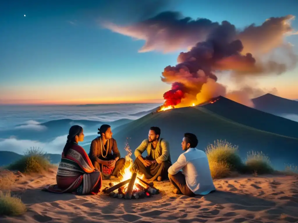
[[[24,156],[8,166],[10,170],[19,170],[25,174],[48,171],[52,165],[41,148],[31,147]]]

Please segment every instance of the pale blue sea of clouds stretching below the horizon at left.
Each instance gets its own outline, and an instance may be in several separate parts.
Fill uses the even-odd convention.
[[[1,106],[0,128],[4,131],[33,130],[42,132],[46,126],[41,123],[59,120],[91,120],[111,122],[119,119],[135,120],[149,113],[160,104],[116,104],[98,106]],[[81,125],[80,121],[73,121],[71,125]],[[69,126],[70,127],[70,126]],[[46,133],[45,133],[46,134]],[[58,136],[50,142],[32,139],[18,139],[13,134],[9,138],[0,135],[0,150],[24,154],[30,147],[40,147],[44,152],[60,154],[66,143],[68,132]],[[85,131],[85,139],[97,137],[96,131]],[[84,146],[90,141],[79,144]]]

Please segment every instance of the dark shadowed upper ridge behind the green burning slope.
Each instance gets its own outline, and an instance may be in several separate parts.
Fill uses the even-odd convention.
[[[244,106],[224,97],[218,97],[215,103],[209,103],[202,107],[236,123],[298,138],[298,122]]]

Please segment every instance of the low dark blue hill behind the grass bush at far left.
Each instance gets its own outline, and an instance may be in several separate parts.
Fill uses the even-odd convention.
[[[15,161],[18,161],[23,155],[10,151],[0,151],[0,167],[9,165]],[[53,164],[61,161],[61,154],[46,154],[49,157],[50,162]]]

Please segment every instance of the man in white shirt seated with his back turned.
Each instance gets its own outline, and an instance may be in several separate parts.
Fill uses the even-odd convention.
[[[168,169],[170,182],[176,187],[173,192],[193,197],[215,191],[206,153],[195,148],[198,145],[197,137],[185,133],[181,145],[185,152]]]

